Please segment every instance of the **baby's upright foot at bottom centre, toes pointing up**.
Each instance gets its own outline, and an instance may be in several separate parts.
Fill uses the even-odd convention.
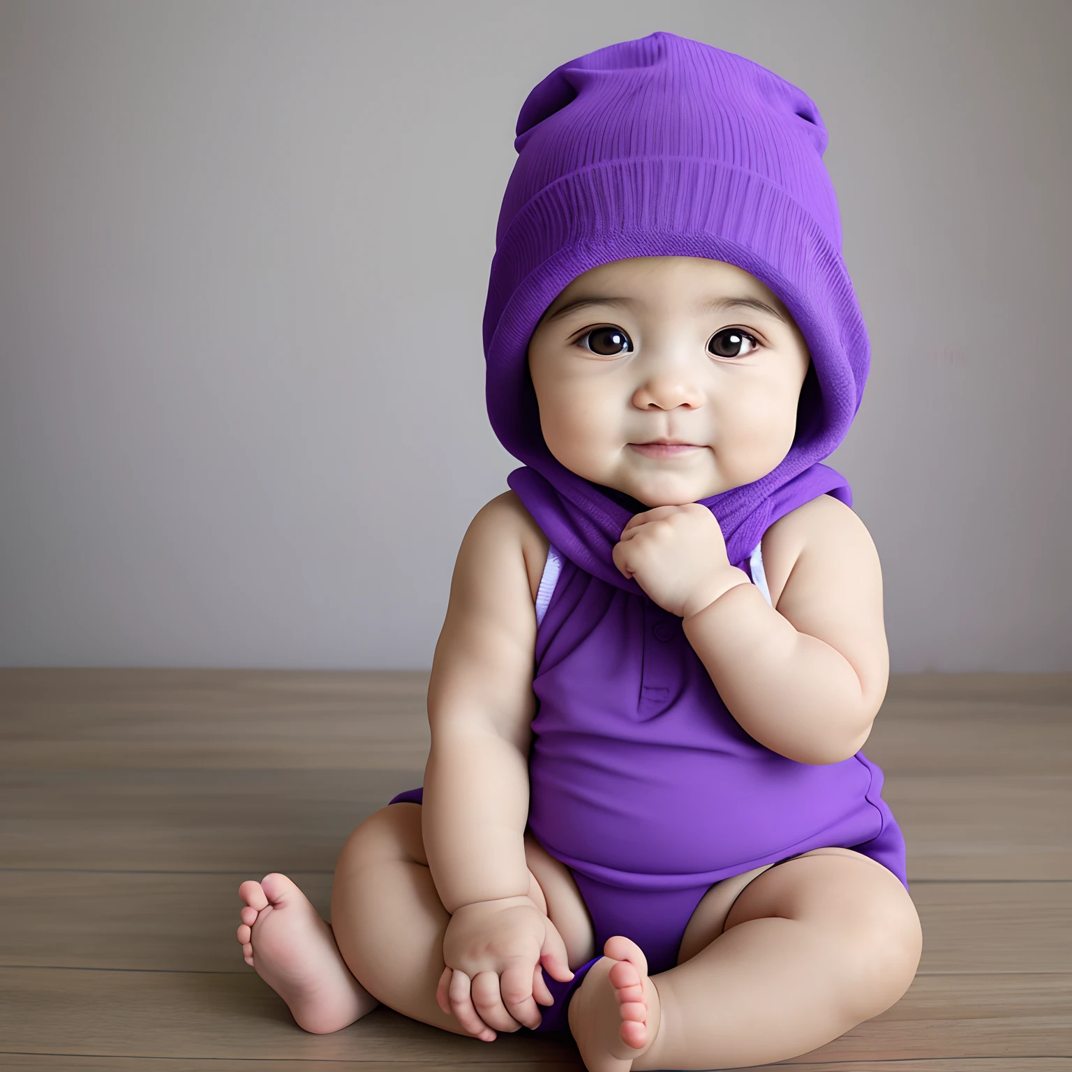
[[[659,995],[640,947],[608,938],[569,1002],[569,1029],[589,1072],[627,1072],[659,1029]]]

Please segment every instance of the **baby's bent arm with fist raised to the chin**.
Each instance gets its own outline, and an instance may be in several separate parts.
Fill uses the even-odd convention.
[[[647,537],[646,563],[634,552],[637,580],[645,584],[646,566],[647,583],[668,601],[649,594],[682,615],[685,636],[733,717],[760,744],[802,763],[854,755],[870,733],[890,670],[881,566],[863,522],[830,495],[775,522],[763,536],[775,610],[729,565],[717,523],[712,535],[696,507],[660,510],[668,511],[665,521],[670,511],[688,517],[676,518],[676,540],[672,532]],[[652,553],[657,548],[661,554]],[[660,560],[674,561],[676,586],[667,589],[658,576],[667,569]]]

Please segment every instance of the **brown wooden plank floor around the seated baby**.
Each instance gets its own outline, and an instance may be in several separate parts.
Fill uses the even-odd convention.
[[[580,1069],[379,1009],[310,1036],[242,964],[242,879],[327,913],[343,838],[417,786],[420,673],[0,670],[0,1067]],[[870,741],[919,976],[802,1070],[1072,1072],[1072,674],[895,678]]]

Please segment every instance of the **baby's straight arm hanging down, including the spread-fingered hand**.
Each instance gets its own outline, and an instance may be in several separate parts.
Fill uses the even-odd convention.
[[[476,516],[458,554],[429,684],[421,821],[432,879],[451,913],[438,998],[480,1037],[489,1027],[539,1023],[534,985],[537,998],[551,1000],[541,959],[556,978],[570,978],[561,937],[530,897],[524,851],[533,579],[546,554],[546,537],[512,492]]]

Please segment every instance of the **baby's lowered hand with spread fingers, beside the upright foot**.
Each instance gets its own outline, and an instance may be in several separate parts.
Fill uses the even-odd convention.
[[[530,897],[463,905],[447,924],[443,961],[440,1008],[486,1042],[495,1038],[493,1029],[538,1026],[536,1002],[554,1000],[540,965],[561,982],[574,978],[562,936]]]

